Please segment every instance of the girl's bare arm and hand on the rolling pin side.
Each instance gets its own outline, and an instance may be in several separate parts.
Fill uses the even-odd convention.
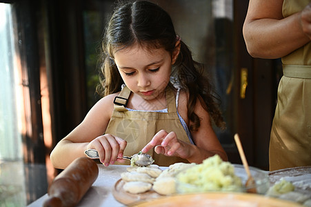
[[[117,157],[119,145],[122,145],[121,148],[123,148],[123,141],[115,139],[116,137],[112,135],[103,135],[112,115],[114,96],[109,95],[99,100],[81,124],[59,141],[50,155],[52,165],[55,168],[66,168],[77,157],[86,156],[84,151],[88,148],[99,150],[101,161],[108,165],[112,157],[113,159]],[[106,155],[103,150],[104,147],[110,148],[110,154],[113,155],[104,156]],[[118,152],[115,152],[114,148]]]

